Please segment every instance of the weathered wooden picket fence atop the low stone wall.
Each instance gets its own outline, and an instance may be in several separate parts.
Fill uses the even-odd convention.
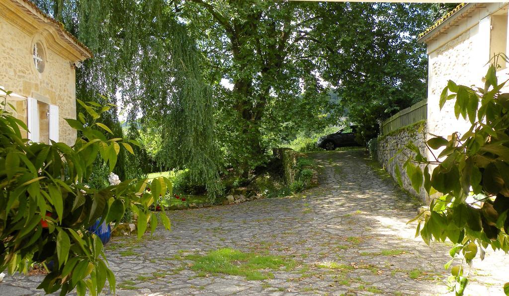
[[[382,123],[382,134],[386,135],[404,126],[428,118],[428,100],[422,100],[392,115]]]

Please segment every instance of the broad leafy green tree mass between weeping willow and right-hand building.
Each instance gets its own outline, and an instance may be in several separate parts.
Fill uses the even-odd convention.
[[[426,52],[415,36],[430,14],[430,5],[261,0],[185,0],[179,12],[216,81],[227,159],[244,173],[286,127],[328,111],[322,80],[366,131],[426,98]]]

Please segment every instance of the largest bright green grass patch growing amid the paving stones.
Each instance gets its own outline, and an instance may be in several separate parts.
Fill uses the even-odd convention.
[[[209,252],[207,255],[188,255],[194,261],[191,270],[195,272],[244,276],[246,280],[265,280],[274,278],[269,271],[281,267],[293,269],[297,263],[281,256],[244,253],[230,248]]]

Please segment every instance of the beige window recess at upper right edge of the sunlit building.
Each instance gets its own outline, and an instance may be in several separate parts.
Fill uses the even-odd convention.
[[[507,7],[491,15],[490,58],[501,52],[507,54]],[[500,69],[506,68],[502,58],[498,59],[497,64]]]

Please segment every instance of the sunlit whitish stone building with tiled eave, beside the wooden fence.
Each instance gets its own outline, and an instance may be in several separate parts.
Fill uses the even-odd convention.
[[[464,132],[468,121],[456,119],[454,100],[447,101],[440,110],[439,100],[447,81],[457,84],[484,86],[482,81],[489,61],[507,49],[507,2],[461,4],[433,26],[419,35],[426,43],[429,58],[428,70],[428,132],[450,137]],[[497,71],[499,81],[509,78],[504,61]],[[431,157],[431,155],[430,155]]]

